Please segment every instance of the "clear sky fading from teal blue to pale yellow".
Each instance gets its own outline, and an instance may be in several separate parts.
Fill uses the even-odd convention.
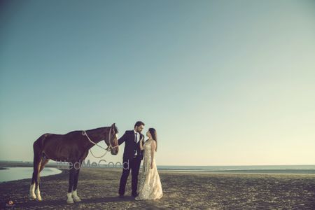
[[[315,164],[314,1],[1,1],[0,31],[0,160],[142,120],[158,165]]]

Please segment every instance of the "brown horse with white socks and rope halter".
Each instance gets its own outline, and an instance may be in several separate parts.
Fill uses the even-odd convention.
[[[82,161],[87,157],[90,148],[94,145],[99,146],[97,143],[102,140],[108,146],[106,148],[107,151],[111,151],[112,155],[118,154],[118,129],[115,123],[110,127],[99,127],[92,130],[72,131],[67,134],[46,133],[41,135],[33,144],[34,171],[29,188],[31,199],[42,200],[39,190],[40,172],[49,160],[55,160],[57,162],[69,162],[69,188],[66,194],[66,202],[68,204],[73,204],[73,200],[80,202],[77,186]]]

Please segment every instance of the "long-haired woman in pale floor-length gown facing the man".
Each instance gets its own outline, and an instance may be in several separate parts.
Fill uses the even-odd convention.
[[[149,139],[145,143],[140,142],[141,151],[144,150],[144,165],[142,167],[139,195],[135,198],[136,200],[155,200],[163,196],[160,176],[154,160],[157,151],[155,129],[149,128],[146,136]]]

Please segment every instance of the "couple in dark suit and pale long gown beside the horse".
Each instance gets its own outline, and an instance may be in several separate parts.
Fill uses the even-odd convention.
[[[144,141],[144,123],[138,121],[134,125],[134,130],[126,131],[123,137],[118,139],[118,144],[125,142],[123,154],[123,174],[120,178],[119,197],[125,195],[125,188],[130,170],[132,172],[132,196],[135,200],[155,200],[163,196],[162,185],[158,169],[155,165],[155,152],[157,148],[157,134],[154,128],[149,128],[146,132],[148,139]],[[141,160],[144,159],[142,174],[140,178],[139,193],[138,174]]]

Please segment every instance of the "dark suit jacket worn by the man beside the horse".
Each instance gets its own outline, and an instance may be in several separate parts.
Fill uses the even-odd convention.
[[[130,160],[134,158],[134,150],[137,150],[138,157],[142,160],[144,158],[144,155],[142,154],[142,151],[140,149],[140,141],[144,140],[144,135],[140,134],[140,141],[136,143],[134,141],[135,135],[134,130],[127,130],[125,134],[123,134],[123,137],[120,137],[118,139],[118,144],[123,144],[125,142],[125,149],[123,154],[124,160]]]

